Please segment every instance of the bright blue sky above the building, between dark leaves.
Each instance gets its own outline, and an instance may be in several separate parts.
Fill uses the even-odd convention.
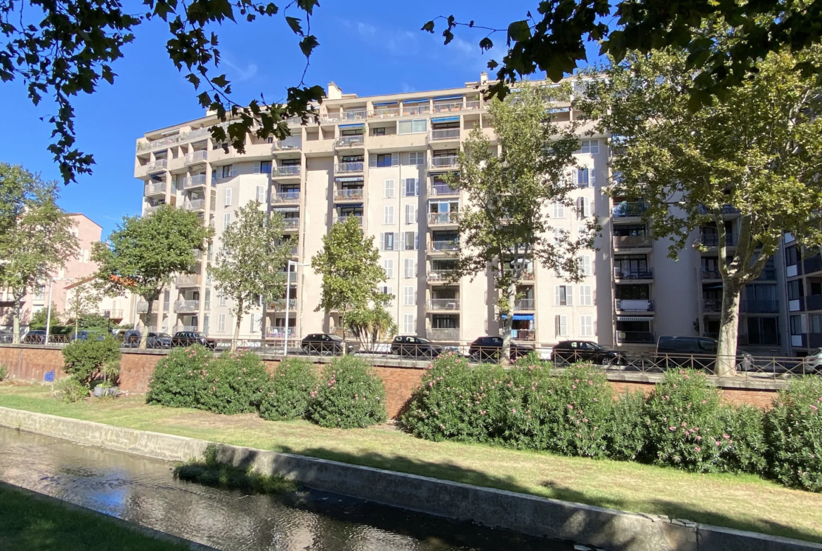
[[[280,2],[278,2],[280,3]],[[440,35],[419,28],[438,15],[453,13],[460,21],[505,27],[536,9],[536,0],[508,2],[376,2],[326,0],[312,17],[312,34],[320,46],[312,55],[306,83],[323,87],[330,81],[345,93],[389,94],[436,90],[477,80],[492,56],[476,45],[481,31],[459,30],[457,39],[442,45]],[[284,3],[283,3],[284,5]],[[444,7],[445,6],[445,7]],[[296,11],[289,15],[298,16]],[[91,176],[78,177],[62,189],[59,203],[71,212],[88,215],[104,227],[107,236],[122,216],[139,214],[141,182],[133,177],[135,140],[145,131],[184,122],[203,114],[196,93],[173,67],[165,43],[168,31],[161,22],[141,26],[125,57],[113,66],[114,85],[104,84],[90,96],[76,100],[78,147],[95,155]],[[254,23],[229,23],[218,30],[223,53],[221,72],[232,81],[233,99],[245,103],[265,94],[267,101],[284,98],[296,85],[305,57],[282,16]],[[505,34],[492,39],[504,46]],[[217,73],[219,74],[219,72]],[[0,161],[21,163],[45,179],[59,172],[46,147],[51,127],[48,102],[35,108],[21,82],[0,84],[0,103],[6,106]]]

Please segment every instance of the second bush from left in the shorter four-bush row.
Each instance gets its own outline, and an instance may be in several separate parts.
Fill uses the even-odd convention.
[[[263,396],[269,376],[253,352],[224,352],[205,367],[205,387],[197,407],[224,415],[252,413]]]

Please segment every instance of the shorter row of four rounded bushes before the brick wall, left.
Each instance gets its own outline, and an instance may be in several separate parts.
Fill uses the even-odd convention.
[[[308,419],[350,429],[386,420],[386,390],[372,367],[351,356],[317,377],[311,362],[289,358],[269,376],[252,352],[214,356],[199,345],[160,360],[146,402],[231,415],[258,412],[267,420]]]

